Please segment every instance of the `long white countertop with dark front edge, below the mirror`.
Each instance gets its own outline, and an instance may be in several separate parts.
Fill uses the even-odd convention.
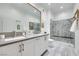
[[[0,47],[9,45],[9,44],[13,44],[13,43],[17,43],[17,42],[21,42],[21,41],[25,41],[25,40],[30,40],[30,39],[41,37],[41,36],[46,36],[46,35],[49,35],[49,34],[33,34],[33,35],[27,35],[26,37],[19,36],[19,37],[14,37],[14,38],[1,39]]]

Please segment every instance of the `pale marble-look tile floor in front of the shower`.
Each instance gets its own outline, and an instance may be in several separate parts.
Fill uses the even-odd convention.
[[[49,41],[48,52],[44,56],[78,56],[78,53],[72,44]]]

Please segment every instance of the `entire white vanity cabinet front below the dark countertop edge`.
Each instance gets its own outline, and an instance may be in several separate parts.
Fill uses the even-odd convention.
[[[47,37],[40,36],[0,46],[0,56],[40,56],[47,49]]]

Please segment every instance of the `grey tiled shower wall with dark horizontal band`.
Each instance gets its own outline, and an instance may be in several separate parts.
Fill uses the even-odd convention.
[[[52,21],[50,23],[50,38],[67,43],[75,43],[75,33],[70,32],[72,19]]]

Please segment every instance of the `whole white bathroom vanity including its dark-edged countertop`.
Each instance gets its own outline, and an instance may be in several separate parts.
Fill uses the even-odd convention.
[[[48,34],[9,39],[0,42],[0,56],[40,56],[48,46]]]

